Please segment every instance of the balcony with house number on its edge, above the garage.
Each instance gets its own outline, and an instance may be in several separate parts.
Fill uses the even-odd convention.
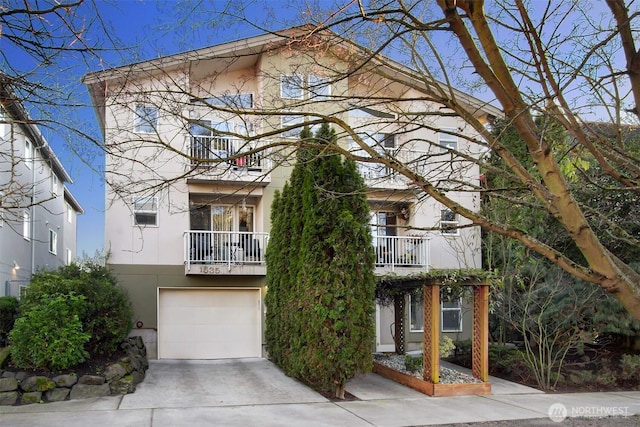
[[[185,274],[264,276],[269,233],[185,231]]]

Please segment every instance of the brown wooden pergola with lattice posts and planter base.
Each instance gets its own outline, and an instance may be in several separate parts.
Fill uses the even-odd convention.
[[[473,377],[482,382],[469,384],[440,383],[440,290],[444,283],[443,278],[437,274],[430,274],[421,278],[394,278],[393,282],[395,282],[397,289],[404,289],[405,291],[422,287],[424,297],[423,380],[420,381],[411,376],[407,376],[409,378],[398,378],[395,373],[386,372],[380,365],[376,365],[374,370],[385,376],[393,376],[391,379],[431,396],[490,394],[491,384],[488,382],[489,283],[487,280],[482,277],[469,277],[467,275],[464,280],[456,281],[457,286],[470,287],[473,297],[471,372]],[[394,305],[396,308],[396,337],[402,340],[401,342],[396,342],[396,351],[404,353],[404,296],[399,298],[396,295]],[[398,322],[398,320],[402,321]],[[402,375],[405,374],[401,374],[400,377]]]

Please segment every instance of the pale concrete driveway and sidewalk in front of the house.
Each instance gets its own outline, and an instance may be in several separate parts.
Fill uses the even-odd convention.
[[[152,361],[134,394],[0,407],[2,426],[417,426],[640,414],[640,392],[545,394],[492,379],[490,396],[428,397],[375,374],[331,402],[265,359]],[[567,420],[566,422],[570,422]],[[562,425],[558,423],[558,425]]]

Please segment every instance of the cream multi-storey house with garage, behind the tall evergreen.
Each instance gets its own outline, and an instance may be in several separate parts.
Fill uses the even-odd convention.
[[[292,164],[290,150],[273,144],[296,142],[300,129],[289,127],[307,120],[305,112],[348,122],[375,150],[392,150],[430,177],[479,179],[476,165],[458,157],[451,163],[447,151],[480,155],[456,136],[477,135],[460,118],[435,114],[442,105],[421,101],[422,82],[410,74],[400,76],[406,84],[390,82],[366,67],[337,78],[334,71],[347,70],[354,46],[335,35],[329,43],[321,37],[288,40],[296,31],[84,78],[108,148],[108,264],[132,299],[137,333],[152,353],[157,342],[159,358],[263,355],[270,207]],[[312,56],[304,54],[309,50]],[[376,69],[391,74],[404,69],[386,64]],[[375,101],[385,94],[402,95],[397,102]],[[500,114],[457,95],[474,106],[480,120]],[[399,109],[415,112],[416,122],[429,120],[429,125],[401,127]],[[424,114],[428,111],[434,113]],[[256,136],[265,134],[269,137]],[[354,149],[353,141],[339,136],[346,149]],[[456,228],[468,221],[384,167],[359,167],[369,189],[377,274],[480,267],[478,228]],[[479,208],[477,193],[451,195],[467,208]],[[422,310],[416,310],[416,301],[409,306],[407,338],[418,347]],[[457,301],[444,307],[443,326],[454,338],[470,336],[462,318]],[[393,322],[392,309],[378,308],[378,350],[393,349]]]

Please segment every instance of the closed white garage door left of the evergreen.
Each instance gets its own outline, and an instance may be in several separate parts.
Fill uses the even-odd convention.
[[[159,359],[260,357],[259,289],[159,289]]]

